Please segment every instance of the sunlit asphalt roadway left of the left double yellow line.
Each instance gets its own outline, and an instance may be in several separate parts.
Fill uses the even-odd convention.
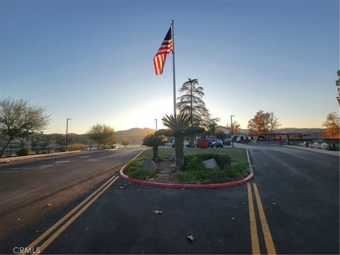
[[[141,151],[79,152],[0,164],[0,253],[29,242]]]

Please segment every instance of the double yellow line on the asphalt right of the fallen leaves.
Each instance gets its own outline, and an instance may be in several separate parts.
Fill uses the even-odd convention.
[[[253,202],[253,194],[251,193],[251,185],[247,183],[248,188],[248,201],[249,201],[249,218],[250,218],[250,233],[251,233],[251,250],[253,254],[261,254],[259,245],[259,236],[256,227],[256,218]],[[264,242],[266,243],[267,254],[276,254],[276,249],[273,243],[273,238],[271,237],[271,231],[269,230],[268,222],[266,220],[266,215],[264,214],[259,189],[256,183],[253,183],[254,193],[256,198],[257,208],[259,209],[259,216],[261,220],[262,232]]]

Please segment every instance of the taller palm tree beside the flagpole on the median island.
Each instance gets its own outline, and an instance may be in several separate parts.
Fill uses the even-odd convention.
[[[184,137],[204,132],[204,129],[191,127],[191,115],[186,113],[179,113],[176,117],[174,115],[165,115],[162,121],[163,125],[168,129],[158,130],[157,134],[175,137],[176,169],[182,170],[184,166]]]

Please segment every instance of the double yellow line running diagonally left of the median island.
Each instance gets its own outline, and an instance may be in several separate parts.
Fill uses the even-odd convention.
[[[21,254],[26,254],[26,251],[34,251],[34,254],[40,254],[51,242],[53,242],[54,239],[56,239],[63,231],[66,229],[69,225],[74,222],[74,220],[81,215],[81,213],[84,212],[89,206],[94,203],[94,201],[101,196],[101,194],[106,191],[117,179],[119,176],[112,176],[111,179],[106,181],[100,188],[98,188],[94,193],[91,193],[89,197],[87,197],[84,201],[82,201],[79,205],[77,205],[75,208],[73,208],[71,211],[67,213],[64,217],[62,217],[60,220],[58,220],[55,225],[52,225],[45,233],[40,235],[37,239],[35,239],[33,242],[28,244],[26,246],[26,249]],[[83,206],[84,205],[84,206]],[[79,208],[81,208],[79,210]],[[78,210],[78,212],[77,212]],[[77,212],[74,214],[74,212]],[[73,215],[73,216],[72,216]],[[72,217],[71,217],[72,216]],[[70,217],[70,218],[69,218]],[[69,218],[69,220],[67,220]],[[67,220],[67,221],[66,221]],[[65,222],[66,221],[66,222]],[[61,225],[61,227],[59,227]],[[57,229],[59,227],[59,229]],[[42,242],[42,240],[47,237],[51,232],[55,231],[45,242],[43,242],[41,245],[38,245]],[[39,249],[38,249],[39,248]]]

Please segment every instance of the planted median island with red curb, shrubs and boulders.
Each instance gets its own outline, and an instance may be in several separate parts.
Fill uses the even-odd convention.
[[[171,149],[159,150],[159,155],[169,154]],[[208,156],[206,155],[208,152]],[[249,155],[246,149],[228,148],[228,149],[186,149],[186,159],[188,169],[184,171],[174,171],[174,168],[169,171],[169,159],[162,159],[157,164],[158,168],[152,175],[151,169],[145,169],[143,175],[141,165],[143,160],[148,160],[152,154],[152,150],[145,150],[139,154],[135,160],[120,169],[120,176],[126,181],[140,183],[146,186],[158,186],[164,188],[225,188],[230,186],[243,185],[254,178],[254,171],[251,168]],[[227,155],[225,155],[227,154]],[[203,169],[197,162],[189,162],[192,159],[200,159],[204,157],[217,157],[217,162],[225,165],[221,169]],[[226,157],[227,156],[227,157]],[[226,159],[230,159],[228,163]],[[167,169],[164,167],[164,162],[168,161]],[[226,165],[227,164],[227,165]],[[163,166],[162,166],[163,165]],[[191,165],[191,166],[190,166]],[[160,169],[159,169],[159,166]],[[193,166],[193,168],[192,168]],[[173,165],[172,165],[173,167]],[[197,169],[195,167],[198,167]],[[238,171],[238,172],[237,172]],[[149,177],[151,176],[151,177]]]

